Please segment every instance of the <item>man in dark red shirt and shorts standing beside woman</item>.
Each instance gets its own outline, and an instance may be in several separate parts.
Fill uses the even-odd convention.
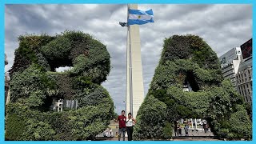
[[[121,134],[123,141],[125,141],[126,138],[126,112],[125,110],[122,110],[122,115],[119,115],[118,118],[115,120],[115,122],[119,122],[119,129],[118,129],[118,141],[120,141]]]

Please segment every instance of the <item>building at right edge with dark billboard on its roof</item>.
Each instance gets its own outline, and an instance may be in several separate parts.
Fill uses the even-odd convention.
[[[238,74],[236,75],[236,84],[238,92],[245,98],[245,102],[252,102],[252,38],[241,46],[242,62],[240,63]]]

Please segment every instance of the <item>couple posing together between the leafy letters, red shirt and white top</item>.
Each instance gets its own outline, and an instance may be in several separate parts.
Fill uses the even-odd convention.
[[[118,141],[120,141],[121,134],[123,137],[123,141],[125,141],[126,131],[128,135],[128,141],[131,141],[133,135],[133,127],[136,123],[136,120],[132,118],[131,113],[129,113],[128,118],[126,118],[125,110],[122,110],[122,115],[119,115],[115,122],[119,122]]]

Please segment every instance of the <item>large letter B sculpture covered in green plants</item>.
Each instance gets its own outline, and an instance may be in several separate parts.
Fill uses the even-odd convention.
[[[110,54],[80,31],[20,36],[10,70],[6,140],[86,140],[106,130],[114,103],[100,84]],[[61,66],[73,66],[55,72]],[[78,100],[78,109],[52,110],[54,99]]]

